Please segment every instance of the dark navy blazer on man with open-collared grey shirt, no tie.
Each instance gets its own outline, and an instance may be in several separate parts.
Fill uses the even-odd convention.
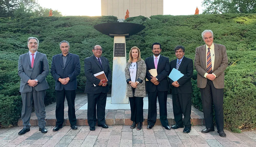
[[[65,67],[63,67],[62,55],[58,54],[52,57],[51,75],[55,79],[55,90],[76,90],[77,76],[80,74],[80,59],[76,54],[69,53]],[[62,85],[59,78],[69,77],[70,81],[66,85]]]

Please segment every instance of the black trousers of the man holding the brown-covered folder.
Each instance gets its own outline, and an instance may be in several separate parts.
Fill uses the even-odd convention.
[[[90,94],[88,97],[88,111],[87,118],[89,126],[95,126],[98,118],[98,125],[105,124],[105,107],[107,100],[107,93]],[[97,109],[96,109],[97,106]],[[97,117],[96,117],[97,112]]]

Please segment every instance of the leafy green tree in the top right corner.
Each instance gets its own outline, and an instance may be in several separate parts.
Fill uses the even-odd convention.
[[[256,0],[204,0],[203,14],[256,13]]]

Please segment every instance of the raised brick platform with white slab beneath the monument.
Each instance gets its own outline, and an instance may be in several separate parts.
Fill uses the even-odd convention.
[[[110,95],[108,95],[109,97]],[[86,104],[87,104],[87,94],[78,94],[76,96],[75,100],[75,108],[76,108],[76,117],[77,117],[77,125],[78,126],[88,126],[88,121],[87,121],[87,109],[86,109]],[[120,107],[120,105],[125,105],[124,107]],[[147,103],[147,98],[144,98],[144,106],[148,105]],[[108,106],[108,107],[107,107]],[[115,107],[114,107],[115,106]],[[106,124],[107,125],[132,125],[131,121],[131,110],[130,110],[130,104],[110,104],[109,98],[107,99],[107,105],[106,105],[106,110],[105,110],[105,118],[106,118]],[[112,109],[109,109],[111,108]],[[46,111],[46,125],[47,126],[55,126],[56,125],[56,117],[55,117],[55,108],[56,108],[56,103],[52,103],[48,106],[45,107]],[[120,109],[118,109],[120,108]],[[127,108],[127,109],[126,109]],[[142,125],[147,125],[147,113],[148,109],[143,107],[143,117],[144,117],[144,122]],[[191,109],[191,124],[192,125],[205,125],[204,121],[204,114],[194,108],[192,106]],[[68,105],[67,101],[65,101],[65,108],[64,108],[64,123],[63,126],[69,126],[69,120],[68,120]],[[172,107],[172,95],[167,96],[167,119],[169,121],[169,125],[175,124],[174,121],[174,115],[173,115],[173,107]],[[38,126],[38,121],[35,112],[31,113],[31,118],[30,118],[30,124],[31,126]],[[159,119],[159,104],[157,102],[157,119],[156,119],[156,124],[155,125],[161,125],[160,119]],[[19,119],[18,121],[18,126],[23,126],[22,120]]]

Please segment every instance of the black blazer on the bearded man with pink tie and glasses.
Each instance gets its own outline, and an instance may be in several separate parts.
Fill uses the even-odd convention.
[[[153,84],[150,82],[152,79],[150,76],[152,76],[148,70],[155,69],[155,64],[154,64],[154,57],[148,57],[145,59],[145,63],[147,66],[147,71],[146,71],[146,78],[149,80],[146,82],[146,90],[148,92],[154,92],[157,88],[158,91],[168,91],[169,90],[169,83],[167,76],[170,73],[170,63],[169,63],[169,58],[160,55],[159,61],[157,64],[157,76],[156,78],[160,82],[158,85]]]

